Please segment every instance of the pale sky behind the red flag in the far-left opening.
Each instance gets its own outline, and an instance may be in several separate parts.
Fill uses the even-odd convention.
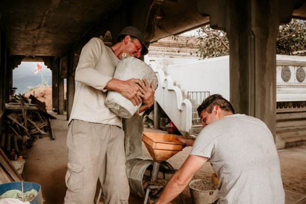
[[[42,68],[35,74],[37,63],[41,64]],[[13,87],[17,88],[16,94],[22,94],[30,88],[39,86],[42,81],[46,81],[48,86],[52,86],[52,71],[43,62],[21,62],[18,67],[13,69]]]

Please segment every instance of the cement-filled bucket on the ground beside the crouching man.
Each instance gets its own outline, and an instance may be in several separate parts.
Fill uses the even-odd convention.
[[[190,190],[190,194],[191,194],[191,201],[192,204],[209,204],[209,203],[213,203],[214,201],[216,201],[218,199],[217,195],[219,190],[201,190],[200,188],[196,188],[193,184],[196,182],[207,182],[206,180],[202,180],[202,179],[196,179],[196,180],[192,180],[189,183],[189,190]]]

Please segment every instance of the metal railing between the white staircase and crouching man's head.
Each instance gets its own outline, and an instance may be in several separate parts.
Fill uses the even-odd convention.
[[[192,124],[201,124],[200,117],[197,114],[197,107],[202,104],[202,101],[210,96],[209,91],[188,91],[188,99],[192,104]]]

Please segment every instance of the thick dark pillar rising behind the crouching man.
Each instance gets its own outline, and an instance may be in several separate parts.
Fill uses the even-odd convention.
[[[278,3],[198,1],[201,14],[211,17],[211,28],[224,30],[230,40],[230,101],[236,113],[263,120],[274,139]]]

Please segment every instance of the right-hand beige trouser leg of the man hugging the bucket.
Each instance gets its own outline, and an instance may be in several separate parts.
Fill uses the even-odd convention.
[[[124,132],[117,126],[111,126],[110,131],[111,140],[107,147],[99,180],[105,204],[127,204],[129,203],[130,187],[125,170]]]

